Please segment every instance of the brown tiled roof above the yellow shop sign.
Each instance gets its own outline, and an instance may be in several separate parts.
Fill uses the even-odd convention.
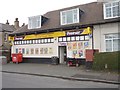
[[[70,25],[60,25],[60,11],[74,9],[74,8],[80,8],[80,10],[83,11],[81,12],[80,22],[76,24],[70,24]],[[94,25],[94,24],[118,21],[118,18],[104,20],[103,4],[97,3],[97,2],[92,2],[88,4],[77,5],[73,7],[50,11],[44,14],[43,16],[47,17],[48,20],[43,24],[41,28],[28,30],[26,25],[16,30],[15,32],[13,32],[13,34],[19,34],[19,33],[25,33],[25,32],[29,33],[29,32],[35,32],[35,31],[41,32],[44,30],[62,29],[62,28],[71,27],[71,26]]]

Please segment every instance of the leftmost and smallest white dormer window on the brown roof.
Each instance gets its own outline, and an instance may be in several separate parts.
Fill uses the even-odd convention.
[[[33,16],[28,18],[28,29],[41,28],[41,16]]]

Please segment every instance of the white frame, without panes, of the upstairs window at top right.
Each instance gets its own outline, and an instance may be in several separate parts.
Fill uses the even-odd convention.
[[[120,17],[120,13],[119,13],[119,15],[118,16],[113,16],[113,3],[115,3],[115,2],[119,2],[119,7],[118,7],[118,10],[120,9],[120,0],[116,0],[116,1],[110,1],[110,2],[107,2],[107,3],[104,3],[103,4],[103,11],[104,11],[104,19],[111,19],[111,18],[118,18],[118,17]],[[107,17],[106,16],[106,4],[111,4],[112,6],[110,7],[111,8],[111,17]],[[120,10],[119,10],[120,11]]]

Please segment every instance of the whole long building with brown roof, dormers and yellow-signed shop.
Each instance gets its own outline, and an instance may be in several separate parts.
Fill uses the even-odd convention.
[[[120,48],[120,0],[92,2],[28,18],[28,25],[10,34],[11,53],[24,62],[50,63],[86,59],[87,49],[113,52]]]

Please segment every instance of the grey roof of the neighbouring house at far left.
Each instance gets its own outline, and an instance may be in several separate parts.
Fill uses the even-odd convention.
[[[15,28],[14,28],[14,26],[13,25],[8,25],[8,24],[2,24],[2,23],[0,23],[0,32],[3,32],[3,31],[5,31],[5,32],[13,32],[13,31],[15,31]]]

